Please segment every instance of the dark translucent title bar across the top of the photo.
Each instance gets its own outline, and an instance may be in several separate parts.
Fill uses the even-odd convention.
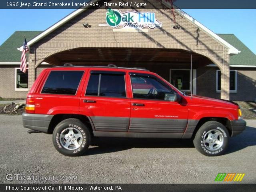
[[[145,9],[174,4],[181,9],[255,9],[255,0],[1,0],[1,9],[76,9],[92,8]]]

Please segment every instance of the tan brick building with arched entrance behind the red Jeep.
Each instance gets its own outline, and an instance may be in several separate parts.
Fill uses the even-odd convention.
[[[126,14],[141,26],[127,25]],[[84,8],[45,31],[16,31],[0,46],[0,96],[25,98],[44,68],[71,63],[146,68],[184,92],[254,100],[256,55],[233,34],[215,34],[182,10],[175,14],[178,28],[166,9]],[[24,35],[30,49],[27,74],[19,70]]]

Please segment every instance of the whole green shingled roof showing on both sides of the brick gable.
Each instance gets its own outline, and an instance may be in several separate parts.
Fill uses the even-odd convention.
[[[21,52],[17,50],[42,31],[16,31],[0,46],[0,62],[20,62]],[[230,57],[230,65],[256,65],[256,55],[246,47],[234,34],[217,34],[226,42],[240,50],[239,54]]]

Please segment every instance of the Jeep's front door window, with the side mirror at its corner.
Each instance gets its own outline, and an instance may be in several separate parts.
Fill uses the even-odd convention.
[[[153,76],[131,75],[133,98],[171,100],[174,91]]]

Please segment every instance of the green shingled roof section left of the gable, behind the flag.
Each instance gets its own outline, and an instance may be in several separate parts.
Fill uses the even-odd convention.
[[[17,50],[26,36],[27,42],[42,31],[16,31],[0,46],[0,62],[20,62],[21,52]]]

